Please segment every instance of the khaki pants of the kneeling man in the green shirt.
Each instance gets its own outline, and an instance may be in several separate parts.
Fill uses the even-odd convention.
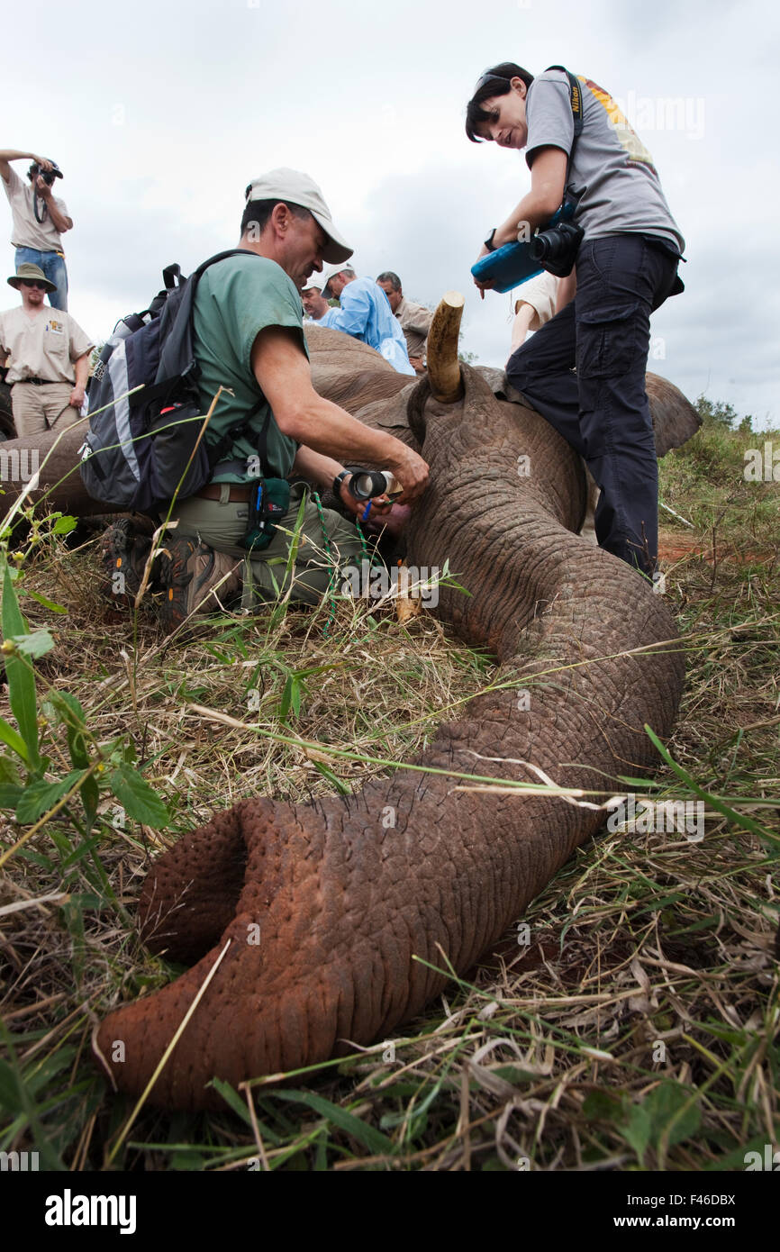
[[[292,578],[285,581],[284,573],[292,532],[295,530],[298,508],[304,495],[307,500],[298,557],[290,571]],[[242,501],[230,502],[228,496],[229,485],[225,483],[222,500],[203,500],[199,496],[190,496],[182,505],[177,505],[170,515],[172,520],[179,520],[174,533],[199,538],[218,552],[245,557],[242,540],[247,531],[249,505]],[[242,608],[254,608],[258,601],[275,600],[284,595],[290,581],[290,600],[304,605],[317,605],[323,592],[328,590],[332,563],[339,568],[352,563],[359,565],[363,552],[361,536],[354,526],[346,521],[341,513],[329,508],[324,508],[322,516],[331,546],[331,560],[326,552],[323,523],[310,491],[304,483],[294,483],[290,487],[289,510],[277,523],[277,533],[269,546],[262,553],[253,556],[252,560],[244,560]]]

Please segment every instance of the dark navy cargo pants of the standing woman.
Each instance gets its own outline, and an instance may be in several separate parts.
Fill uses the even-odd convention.
[[[575,299],[507,364],[512,386],[601,487],[600,546],[650,577],[659,550],[659,466],[645,369],[650,314],[671,294],[676,273],[677,258],[661,240],[587,240],[577,254]]]

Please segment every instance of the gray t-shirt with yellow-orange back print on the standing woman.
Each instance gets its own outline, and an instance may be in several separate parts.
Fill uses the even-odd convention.
[[[685,239],[671,215],[652,156],[611,95],[590,79],[582,84],[582,131],[568,169],[567,198],[577,198],[575,223],[586,239],[650,234],[682,254]],[[571,151],[575,123],[568,79],[546,70],[533,79],[526,100],[528,168],[540,148]]]

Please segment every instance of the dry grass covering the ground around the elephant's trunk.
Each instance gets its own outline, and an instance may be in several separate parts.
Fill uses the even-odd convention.
[[[729,533],[742,532],[735,522]],[[133,931],[149,856],[244,795],[307,799],[381,769],[323,766],[297,739],[413,759],[495,676],[431,617],[404,629],[346,606],[327,636],[326,612],[269,610],[173,642],[139,618],[131,639],[99,598],[95,570],[93,552],[49,546],[26,575],[69,608],[58,620],[24,603],[33,623],[59,626],[36,664],[39,692],[70,691],[100,744],[133,744],[173,824],[115,829],[106,800],[94,849],[53,821],[1,879],[0,906],[19,908],[0,915],[0,1148],[36,1147],[41,1166],[74,1169],[105,1163],[129,1113],[93,1067],[93,1024],[116,998],[172,977]],[[691,645],[670,747],[709,798],[701,843],[603,831],[527,910],[527,931],[453,979],[402,1037],[282,1088],[257,1082],[252,1111],[247,1092],[229,1089],[220,1116],[144,1109],[114,1166],[742,1169],[749,1148],[776,1144],[779,590],[766,551],[754,565],[689,556],[667,573]],[[249,712],[248,699],[259,707]],[[51,767],[65,772],[58,751]],[[697,794],[670,766],[659,781]],[[8,824],[5,844],[18,836]]]

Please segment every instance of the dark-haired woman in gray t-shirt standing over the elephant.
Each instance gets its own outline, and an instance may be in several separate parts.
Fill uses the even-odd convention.
[[[480,257],[545,228],[576,202],[583,238],[576,294],[507,363],[510,382],[585,458],[601,487],[596,538],[652,577],[659,546],[659,470],[645,369],[650,314],[682,290],[685,240],[650,153],[612,98],[578,78],[575,140],[565,70],[536,79],[513,61],[487,70],[466,110],[466,134],[526,149],[531,190],[491,232]],[[570,159],[573,143],[573,156]],[[485,292],[490,283],[478,283]],[[571,283],[563,279],[565,284]],[[573,283],[571,283],[573,289]],[[576,374],[572,367],[576,366]]]

